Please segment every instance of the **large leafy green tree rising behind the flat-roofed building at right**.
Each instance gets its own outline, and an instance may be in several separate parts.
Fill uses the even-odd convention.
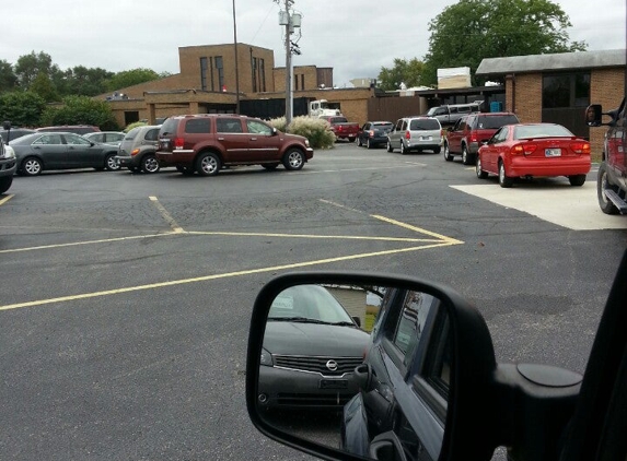
[[[469,67],[484,58],[581,51],[569,42],[568,15],[549,0],[460,0],[429,23],[423,78],[437,83],[442,68]]]

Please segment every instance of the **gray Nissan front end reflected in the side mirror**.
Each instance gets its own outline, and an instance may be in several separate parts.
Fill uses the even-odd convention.
[[[352,375],[370,336],[327,288],[299,285],[282,291],[267,320],[259,405],[337,410],[357,393]]]

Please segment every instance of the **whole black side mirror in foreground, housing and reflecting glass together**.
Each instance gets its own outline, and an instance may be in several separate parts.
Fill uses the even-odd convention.
[[[477,415],[496,368],[483,317],[450,288],[294,273],[256,298],[246,404],[262,433],[325,459],[404,459],[394,440],[409,436],[433,460],[488,460],[498,437]]]

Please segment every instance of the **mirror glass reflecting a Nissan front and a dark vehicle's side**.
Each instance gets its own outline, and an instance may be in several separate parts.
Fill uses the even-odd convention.
[[[437,295],[330,281],[267,303],[255,405],[268,426],[371,459],[439,459],[454,368]]]

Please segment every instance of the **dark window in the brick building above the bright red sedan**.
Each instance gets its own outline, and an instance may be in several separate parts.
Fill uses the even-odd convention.
[[[544,75],[542,107],[587,107],[590,104],[590,72]]]

